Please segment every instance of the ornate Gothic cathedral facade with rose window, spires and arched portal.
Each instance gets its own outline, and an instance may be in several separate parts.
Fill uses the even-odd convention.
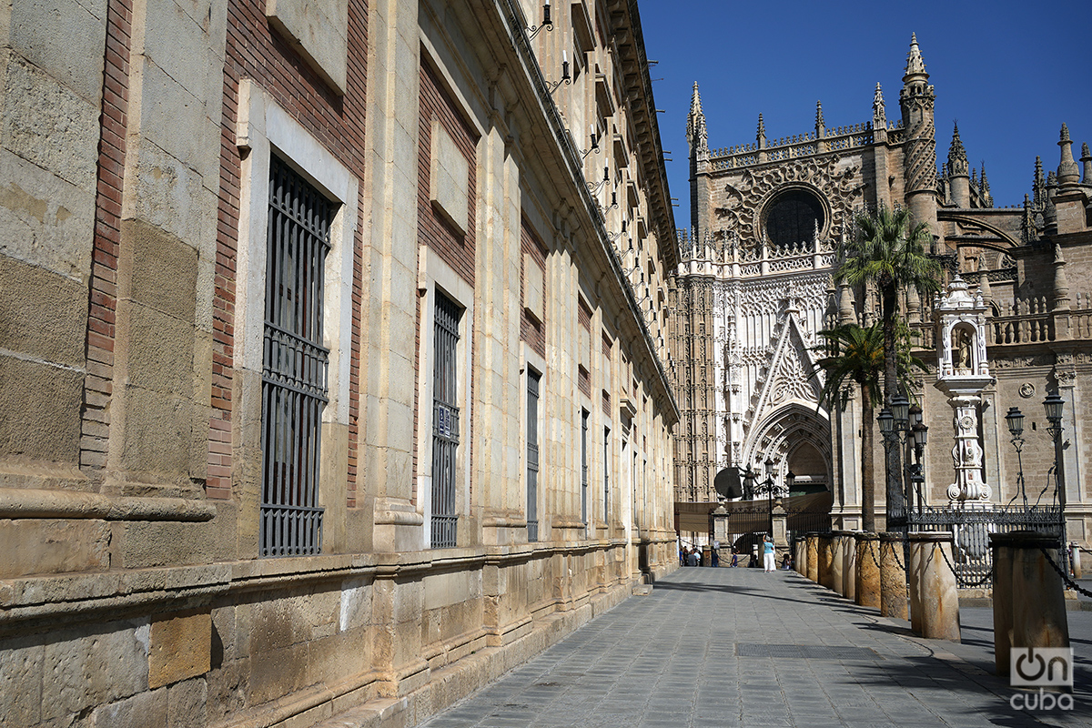
[[[1044,177],[1036,160],[1023,205],[995,207],[985,168],[970,169],[958,128],[938,171],[936,103],[916,36],[892,118],[877,84],[870,120],[828,127],[820,104],[815,128],[805,133],[768,139],[759,115],[755,142],[710,148],[695,84],[687,123],[692,227],[682,235],[669,285],[678,311],[669,363],[681,410],[678,503],[715,508],[715,475],[751,466],[763,476],[772,470],[779,484],[792,472],[797,492],[829,491],[835,525],[859,527],[859,394],[851,393],[845,410],[819,406],[814,347],[826,327],[878,318],[875,290],[834,286],[839,244],[853,236],[855,212],[903,206],[933,230],[929,252],[942,262],[945,283],[958,273],[988,305],[994,381],[983,393],[978,434],[993,484],[989,502],[1007,503],[1017,492],[1017,453],[1005,425],[1011,406],[1033,422],[1023,451],[1029,492],[1047,485],[1054,445],[1042,402],[1057,392],[1065,401],[1068,536],[1088,542],[1092,452],[1081,443],[1092,409],[1081,392],[1092,386],[1092,300],[1079,282],[1092,274],[1092,156],[1083,145],[1081,169],[1063,127],[1057,172]],[[913,290],[901,298],[919,334],[915,354],[930,366],[914,394],[930,428],[927,500],[942,504],[956,467],[956,432],[952,405],[935,386],[936,303]]]

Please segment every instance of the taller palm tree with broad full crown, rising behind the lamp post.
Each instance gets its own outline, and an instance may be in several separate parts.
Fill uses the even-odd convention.
[[[857,235],[842,250],[835,281],[851,286],[874,283],[880,293],[883,326],[883,402],[899,393],[899,290],[910,287],[922,296],[940,289],[940,264],[925,252],[933,234],[925,223],[912,224],[910,211],[880,205],[875,213],[854,218]]]

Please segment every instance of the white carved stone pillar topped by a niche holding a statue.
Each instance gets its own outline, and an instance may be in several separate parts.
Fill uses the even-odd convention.
[[[934,310],[937,342],[937,389],[953,409],[956,481],[948,486],[953,506],[989,508],[990,487],[982,474],[978,409],[992,382],[986,360],[986,303],[956,276]]]

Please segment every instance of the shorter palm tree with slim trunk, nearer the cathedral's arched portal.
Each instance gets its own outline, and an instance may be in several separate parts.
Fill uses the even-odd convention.
[[[874,477],[873,446],[876,440],[873,417],[879,399],[880,372],[883,371],[883,330],[880,323],[862,329],[855,323],[839,324],[820,331],[823,343],[815,347],[824,354],[816,365],[827,374],[819,404],[830,409],[844,409],[850,399],[851,382],[860,387],[862,447],[860,447],[860,527],[876,530],[876,480]]]

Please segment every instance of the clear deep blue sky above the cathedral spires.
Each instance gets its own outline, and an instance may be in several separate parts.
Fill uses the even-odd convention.
[[[913,8],[913,10],[909,10]],[[1035,155],[1058,166],[1069,126],[1073,157],[1092,145],[1092,2],[724,2],[646,0],[641,26],[677,227],[690,226],[686,116],[697,81],[711,148],[871,120],[883,86],[898,119],[910,36],[936,89],[937,160],[948,158],[953,120],[972,167],[986,164],[994,203],[1022,204]],[[656,81],[656,79],[662,79]]]

